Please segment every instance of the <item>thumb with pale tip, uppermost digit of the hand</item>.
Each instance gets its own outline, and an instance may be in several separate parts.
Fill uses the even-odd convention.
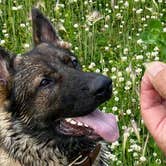
[[[162,62],[151,62],[145,64],[146,73],[155,90],[166,99],[166,64]]]

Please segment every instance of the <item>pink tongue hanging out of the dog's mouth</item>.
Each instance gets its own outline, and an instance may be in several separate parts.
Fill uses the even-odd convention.
[[[111,113],[103,113],[97,109],[91,114],[73,119],[87,124],[108,142],[114,142],[119,137],[118,125],[115,116]]]

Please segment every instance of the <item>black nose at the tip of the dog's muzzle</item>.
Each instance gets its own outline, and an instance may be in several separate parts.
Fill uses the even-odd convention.
[[[89,85],[90,92],[98,99],[107,99],[112,94],[112,80],[106,76],[97,76]]]

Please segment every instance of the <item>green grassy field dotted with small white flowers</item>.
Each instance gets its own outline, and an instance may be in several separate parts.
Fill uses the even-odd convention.
[[[110,165],[166,165],[139,113],[143,64],[166,62],[166,1],[0,0],[0,45],[15,54],[33,46],[32,7],[52,20],[85,71],[113,79],[112,100],[101,107],[117,115],[120,128]]]

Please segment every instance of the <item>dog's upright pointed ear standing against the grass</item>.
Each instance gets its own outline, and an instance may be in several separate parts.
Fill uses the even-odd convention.
[[[32,9],[32,24],[35,46],[42,42],[53,43],[61,46],[61,40],[54,27],[49,20],[36,8]]]

